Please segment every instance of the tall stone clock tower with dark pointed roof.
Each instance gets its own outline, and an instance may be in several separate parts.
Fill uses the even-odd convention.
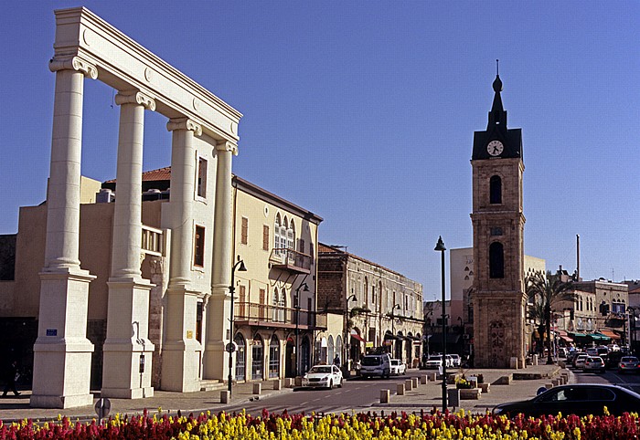
[[[473,169],[474,361],[480,368],[522,368],[525,361],[522,131],[507,129],[502,81],[485,131],[475,131]]]

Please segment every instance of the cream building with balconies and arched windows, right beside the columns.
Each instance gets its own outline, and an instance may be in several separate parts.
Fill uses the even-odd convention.
[[[234,378],[299,375],[327,361],[314,352],[327,326],[326,313],[316,312],[322,218],[240,177],[233,188],[234,254],[247,267],[236,276]],[[324,336],[318,341],[326,347]]]

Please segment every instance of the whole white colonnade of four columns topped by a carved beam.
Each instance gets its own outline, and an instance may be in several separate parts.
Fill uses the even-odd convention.
[[[195,328],[197,303],[197,292],[191,286],[191,207],[196,170],[193,142],[194,136],[206,132],[219,154],[213,219],[216,249],[213,267],[218,269],[213,271],[211,278],[215,304],[208,308],[205,375],[221,378],[222,375],[217,374],[224,361],[226,340],[221,310],[228,308],[218,303],[229,300],[231,153],[237,152],[235,131],[241,115],[87,9],[60,10],[56,11],[56,16],[56,55],[49,63],[51,71],[56,73],[56,92],[47,239],[45,266],[40,273],[40,309],[30,404],[69,408],[92,403],[93,345],[87,339],[86,329],[89,287],[95,277],[80,267],[79,259],[85,78],[100,77],[118,89],[115,101],[121,107],[101,395],[139,398],[154,393],[151,362],[155,346],[148,339],[149,291],[153,285],[142,278],[140,271],[144,110],[165,114],[169,119],[167,129],[173,132],[168,225],[172,231],[171,261],[162,383],[165,389],[197,391],[197,351],[202,349],[199,342],[187,335],[189,329]],[[131,73],[136,71],[144,73],[140,76]],[[171,80],[167,82],[167,79]],[[191,106],[185,102],[190,102]],[[222,194],[225,192],[228,194]],[[208,355],[207,351],[212,353]]]

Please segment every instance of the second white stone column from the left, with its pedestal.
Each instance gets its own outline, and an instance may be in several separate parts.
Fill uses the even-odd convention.
[[[141,277],[144,109],[155,100],[141,92],[119,93],[118,169],[113,213],[112,267],[109,278],[107,339],[102,364],[102,397],[151,397],[149,292]],[[143,368],[144,365],[144,368]]]

